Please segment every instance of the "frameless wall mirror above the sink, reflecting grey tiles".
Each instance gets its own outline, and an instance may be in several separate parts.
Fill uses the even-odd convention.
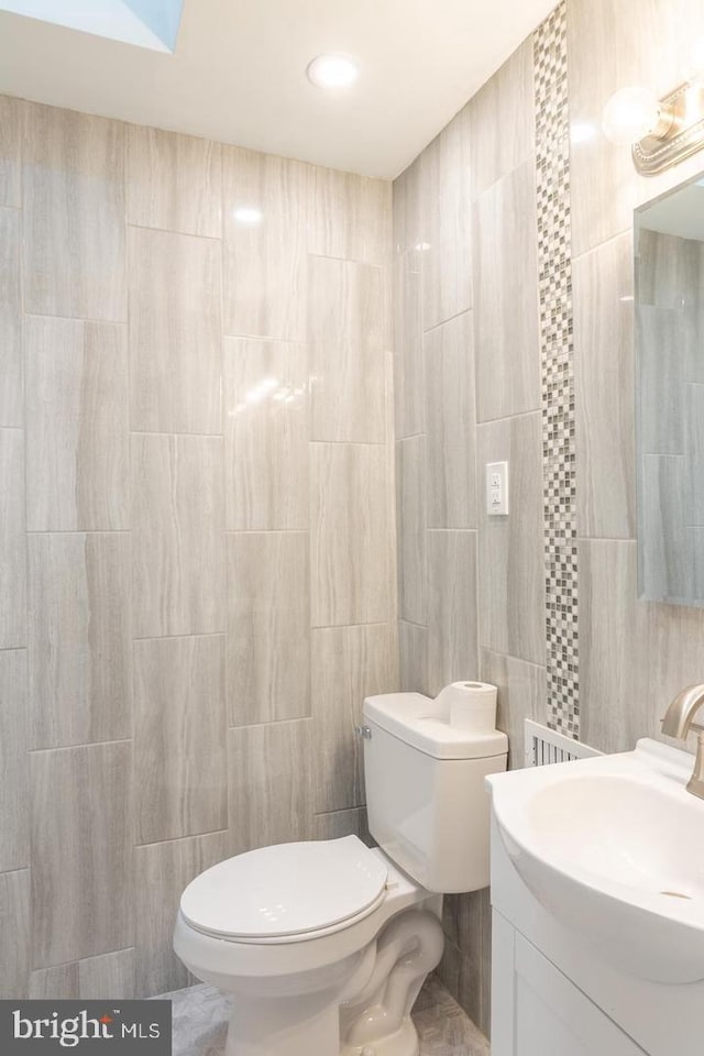
[[[638,593],[704,606],[704,178],[636,212]]]

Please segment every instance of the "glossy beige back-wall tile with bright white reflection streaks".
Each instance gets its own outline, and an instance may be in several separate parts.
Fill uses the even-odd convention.
[[[306,529],[306,349],[226,338],[224,377],[227,527]]]

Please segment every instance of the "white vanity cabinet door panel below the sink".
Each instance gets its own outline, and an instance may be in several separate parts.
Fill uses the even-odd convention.
[[[492,926],[492,1056],[644,1056],[496,911]]]

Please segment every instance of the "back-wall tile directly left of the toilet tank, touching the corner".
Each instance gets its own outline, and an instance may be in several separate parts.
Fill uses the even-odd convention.
[[[311,648],[315,810],[365,802],[363,743],[354,734],[365,696],[392,693],[387,624],[314,630]]]

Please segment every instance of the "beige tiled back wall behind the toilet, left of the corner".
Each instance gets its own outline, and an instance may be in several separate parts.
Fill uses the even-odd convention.
[[[0,97],[0,997],[184,986],[197,872],[364,834],[391,251],[389,184]]]

